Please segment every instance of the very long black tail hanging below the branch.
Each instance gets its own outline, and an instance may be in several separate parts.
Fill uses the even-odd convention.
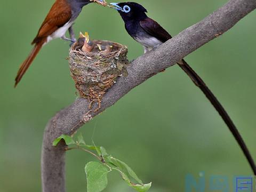
[[[196,74],[196,72],[188,65],[188,63],[185,60],[182,59],[182,61],[178,62],[178,65],[192,79],[192,81],[195,83],[195,85],[198,86],[199,89],[201,89],[203,91],[206,98],[209,99],[209,101],[212,103],[214,108],[218,111],[218,113],[222,117],[223,121],[226,123],[226,125],[228,126],[231,133],[234,135],[239,146],[243,150],[243,153],[246,156],[247,161],[249,162],[254,175],[256,175],[256,166],[255,166],[253,158],[250,154],[250,151],[247,148],[241,134],[238,132],[235,124],[233,123],[233,121],[231,120],[229,115],[227,114],[226,110],[222,107],[221,103],[214,96],[214,94],[211,92],[211,90],[206,86],[203,79]]]

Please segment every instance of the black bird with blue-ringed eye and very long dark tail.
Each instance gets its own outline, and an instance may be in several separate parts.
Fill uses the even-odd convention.
[[[127,33],[144,47],[144,53],[153,50],[155,47],[162,45],[172,38],[172,36],[161,25],[159,25],[159,23],[147,16],[147,10],[145,7],[138,3],[110,3],[109,7],[119,12],[125,23]],[[209,99],[214,108],[218,111],[223,121],[234,135],[238,145],[241,147],[254,175],[256,175],[256,166],[250,151],[226,110],[204,83],[203,79],[199,77],[199,75],[184,59],[180,60],[178,65],[191,78],[194,84],[201,89],[207,99]]]

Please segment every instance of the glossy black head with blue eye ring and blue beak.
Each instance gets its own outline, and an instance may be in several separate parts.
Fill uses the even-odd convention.
[[[116,9],[123,20],[134,20],[147,18],[147,10],[138,3],[110,3],[111,8]]]

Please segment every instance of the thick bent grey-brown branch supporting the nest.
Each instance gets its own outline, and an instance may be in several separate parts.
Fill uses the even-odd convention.
[[[236,22],[256,8],[255,0],[230,0],[204,20],[183,30],[156,50],[142,55],[127,68],[129,75],[120,77],[105,94],[101,109],[89,113],[86,99],[77,99],[61,110],[47,124],[42,148],[42,186],[44,192],[65,191],[65,146],[52,147],[61,134],[72,134],[91,117],[112,106],[135,86],[186,57],[213,38],[225,33]]]

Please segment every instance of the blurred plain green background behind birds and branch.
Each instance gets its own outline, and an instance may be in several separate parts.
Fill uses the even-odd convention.
[[[225,0],[138,0],[172,35],[202,20]],[[69,43],[56,39],[43,47],[17,89],[14,77],[32,48],[53,1],[1,1],[0,38],[0,191],[40,191],[40,158],[44,127],[49,119],[75,99],[69,75]],[[255,142],[255,25],[256,12],[247,15],[223,36],[188,55],[198,72],[226,107],[251,153]],[[97,4],[84,7],[75,31],[129,47],[129,59],[143,53],[126,34],[115,10]],[[113,107],[84,125],[110,154],[129,164],[154,191],[183,191],[185,176],[251,175],[241,149],[218,113],[183,71],[173,66],[133,89]],[[84,165],[93,157],[81,151],[67,153],[67,190],[86,191]],[[111,174],[105,190],[132,191]],[[207,183],[208,186],[208,183]],[[206,190],[208,191],[208,190]]]

